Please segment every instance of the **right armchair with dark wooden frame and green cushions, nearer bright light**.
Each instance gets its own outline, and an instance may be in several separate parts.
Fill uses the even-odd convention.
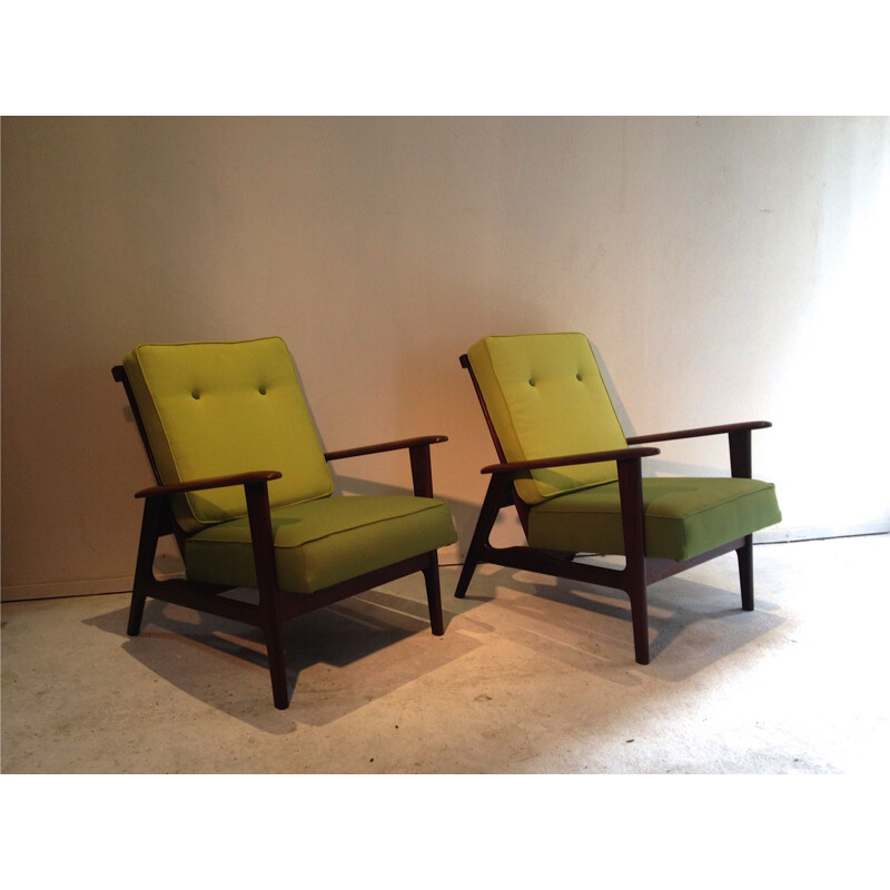
[[[482,562],[624,591],[636,662],[649,664],[646,589],[735,552],[742,609],[754,609],[752,534],[781,521],[771,483],[751,478],[751,432],[764,421],[625,436],[583,334],[486,337],[461,357],[498,463],[490,476],[455,590],[466,596]],[[652,443],[726,435],[731,477],[644,477]],[[501,510],[514,506],[527,546],[495,547]],[[624,556],[624,567],[574,562]]]

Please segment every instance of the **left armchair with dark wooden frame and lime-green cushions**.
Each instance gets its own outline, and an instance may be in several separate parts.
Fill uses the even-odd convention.
[[[422,572],[429,622],[444,633],[438,547],[456,541],[433,496],[423,436],[323,452],[284,342],[136,347],[112,369],[123,387],[156,484],[136,493],[142,525],[127,632],[148,596],[234,619],[265,637],[273,700],[289,705],[283,624]],[[328,462],[404,449],[413,495],[338,496]],[[158,580],[158,541],[172,534],[185,578]],[[256,602],[227,595],[253,587]]]

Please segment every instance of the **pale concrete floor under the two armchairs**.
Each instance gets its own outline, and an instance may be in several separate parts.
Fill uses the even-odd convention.
[[[760,545],[623,595],[483,566],[428,631],[419,575],[258,634],[129,596],[2,604],[3,773],[887,773],[890,536]]]

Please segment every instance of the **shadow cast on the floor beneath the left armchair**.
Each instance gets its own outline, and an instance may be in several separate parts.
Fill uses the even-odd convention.
[[[127,615],[118,609],[86,623],[121,636],[123,651],[170,685],[274,734],[336,721],[479,645],[448,633],[447,617],[445,636],[433,636],[425,600],[369,591],[285,625],[290,708],[278,711],[259,630],[148,600],[130,637]]]

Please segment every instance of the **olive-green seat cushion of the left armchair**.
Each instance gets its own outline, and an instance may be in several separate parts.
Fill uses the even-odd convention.
[[[444,501],[413,496],[335,496],[271,514],[278,586],[313,593],[412,556],[453,544]],[[246,517],[205,528],[186,541],[190,581],[255,587]]]

